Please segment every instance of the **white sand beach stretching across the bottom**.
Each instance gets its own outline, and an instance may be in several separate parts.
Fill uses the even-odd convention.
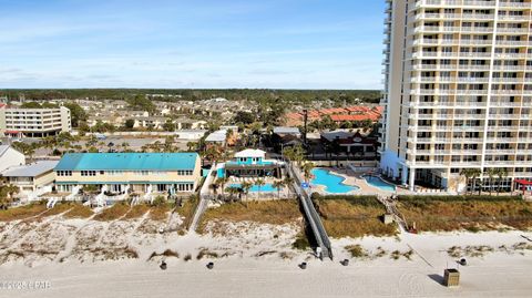
[[[224,223],[223,236],[160,234],[145,218],[105,223],[52,217],[2,225],[0,281],[14,288],[1,289],[0,297],[532,296],[532,243],[522,237],[531,238],[531,233],[336,239],[335,260],[319,261],[310,251],[291,248],[298,232],[293,225]],[[350,258],[344,248],[352,244],[368,256]],[[459,268],[458,288],[441,285],[443,269],[457,268],[457,257],[448,253],[451,247],[469,263]],[[23,248],[33,253],[8,254]],[[180,257],[165,257],[167,269],[162,270],[162,257],[147,259],[165,249]],[[408,259],[405,255],[411,249]],[[202,250],[208,253],[197,259]],[[391,257],[395,250],[398,259]],[[339,264],[344,258],[350,258],[349,266]],[[208,261],[214,263],[212,270]],[[298,267],[301,261],[308,263],[307,269]],[[49,288],[19,289],[20,284],[8,281],[47,281]]]

